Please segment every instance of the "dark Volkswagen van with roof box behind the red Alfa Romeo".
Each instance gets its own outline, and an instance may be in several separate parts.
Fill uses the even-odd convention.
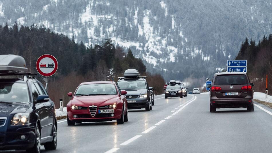
[[[146,76],[139,76],[138,70],[128,69],[124,73],[124,77],[120,77],[117,82],[121,90],[127,91],[127,107],[128,109],[142,109],[145,111],[152,110],[154,105],[154,88],[149,87]]]

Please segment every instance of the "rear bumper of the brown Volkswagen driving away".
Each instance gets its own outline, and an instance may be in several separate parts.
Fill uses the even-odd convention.
[[[250,98],[229,98],[229,99],[210,99],[210,104],[216,108],[238,108],[248,107],[253,104]]]

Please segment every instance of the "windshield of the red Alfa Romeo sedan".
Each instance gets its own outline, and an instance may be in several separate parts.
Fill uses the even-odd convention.
[[[113,84],[80,85],[76,90],[76,96],[116,95],[116,94],[117,91]]]

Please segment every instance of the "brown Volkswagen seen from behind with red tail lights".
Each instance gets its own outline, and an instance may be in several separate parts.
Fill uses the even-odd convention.
[[[221,72],[214,74],[210,87],[210,112],[216,108],[244,107],[254,111],[253,83],[250,83],[247,73]]]

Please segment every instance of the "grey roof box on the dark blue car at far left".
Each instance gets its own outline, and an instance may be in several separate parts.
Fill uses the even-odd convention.
[[[26,72],[25,59],[18,55],[0,55],[0,72]]]

